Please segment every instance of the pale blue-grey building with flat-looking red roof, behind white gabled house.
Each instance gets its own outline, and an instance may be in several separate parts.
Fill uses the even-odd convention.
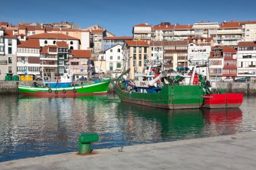
[[[123,46],[126,40],[133,40],[132,36],[107,36],[103,38],[103,50],[107,50],[118,44]]]

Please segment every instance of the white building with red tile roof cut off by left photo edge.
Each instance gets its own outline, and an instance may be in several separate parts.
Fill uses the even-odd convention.
[[[0,30],[0,80],[16,75],[17,36],[13,30]]]

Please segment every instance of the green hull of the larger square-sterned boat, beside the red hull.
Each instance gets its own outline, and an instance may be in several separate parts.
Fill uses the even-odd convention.
[[[166,85],[158,93],[138,93],[115,86],[121,101],[166,109],[200,108],[203,88],[198,85]]]

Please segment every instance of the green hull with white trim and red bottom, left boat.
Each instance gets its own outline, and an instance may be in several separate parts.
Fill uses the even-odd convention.
[[[26,97],[77,97],[85,95],[106,95],[111,79],[71,87],[35,87],[19,85],[20,95]]]

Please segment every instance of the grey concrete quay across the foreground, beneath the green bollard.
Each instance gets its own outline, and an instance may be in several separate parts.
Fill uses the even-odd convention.
[[[256,132],[48,155],[0,163],[0,169],[256,169]]]

